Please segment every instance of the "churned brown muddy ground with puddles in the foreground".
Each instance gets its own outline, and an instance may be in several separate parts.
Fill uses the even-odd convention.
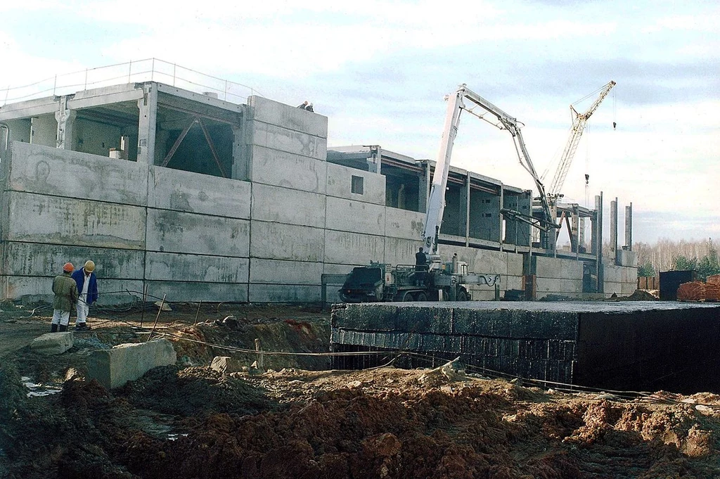
[[[210,369],[217,355],[249,366],[222,348],[256,338],[327,352],[328,313],[297,306],[172,305],[157,324],[155,307],[94,310],[73,349],[44,357],[27,344],[48,308],[0,308],[0,478],[720,477],[718,395],[561,393],[462,365],[332,371],[325,356]],[[176,365],[112,391],[85,379],[92,350],[153,325]]]

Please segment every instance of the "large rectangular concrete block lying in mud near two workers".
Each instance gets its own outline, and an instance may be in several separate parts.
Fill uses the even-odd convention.
[[[120,388],[159,366],[175,364],[173,344],[167,339],[144,343],[119,344],[97,349],[88,358],[88,379],[96,379],[107,389]]]

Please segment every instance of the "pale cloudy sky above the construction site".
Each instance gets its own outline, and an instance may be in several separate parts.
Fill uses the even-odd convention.
[[[570,104],[614,80],[588,122],[565,200],[585,205],[588,173],[589,206],[602,191],[607,218],[618,197],[621,231],[632,202],[634,241],[717,239],[718,24],[717,1],[5,1],[0,94],[56,73],[159,58],[279,102],[310,100],[329,118],[330,147],[377,144],[434,159],[444,96],[465,83],[526,125],[549,184]],[[471,115],[452,164],[534,187],[510,135]]]

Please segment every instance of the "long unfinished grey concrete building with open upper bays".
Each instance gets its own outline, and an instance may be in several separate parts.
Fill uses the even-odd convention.
[[[328,118],[250,95],[142,81],[0,107],[0,277],[4,298],[48,299],[65,261],[94,259],[103,303],[317,302],[323,275],[412,264],[433,161],[379,146],[328,148]],[[451,169],[441,248],[500,274],[500,295],[626,295],[636,285],[631,212],[603,258],[603,200],[559,205],[567,251],[541,249],[533,194]],[[585,247],[589,220],[590,246]],[[336,299],[330,285],[328,299]],[[472,299],[496,297],[476,286]]]

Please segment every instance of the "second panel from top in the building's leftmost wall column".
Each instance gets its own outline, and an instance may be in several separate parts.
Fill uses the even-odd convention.
[[[8,192],[7,241],[143,249],[145,208]]]

